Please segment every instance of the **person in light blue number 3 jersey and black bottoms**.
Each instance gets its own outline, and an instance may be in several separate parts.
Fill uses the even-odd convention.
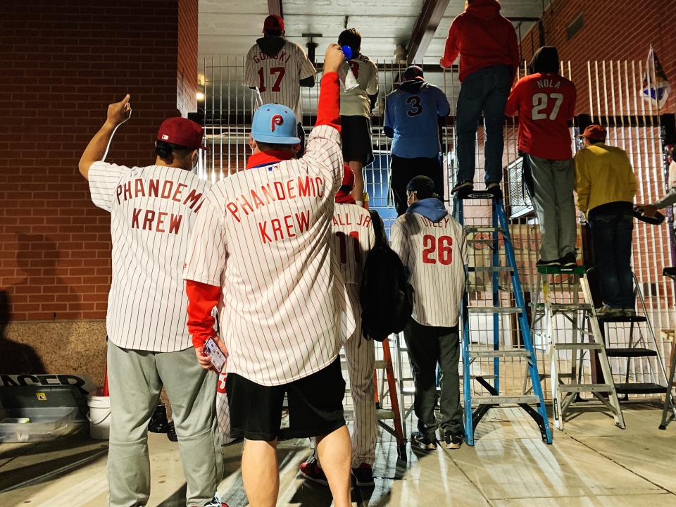
[[[444,169],[439,160],[439,118],[451,113],[441,89],[425,81],[423,69],[411,65],[399,88],[385,99],[384,133],[392,137],[389,187],[396,214],[406,213],[406,185],[412,177],[432,178],[439,200],[444,201]]]

